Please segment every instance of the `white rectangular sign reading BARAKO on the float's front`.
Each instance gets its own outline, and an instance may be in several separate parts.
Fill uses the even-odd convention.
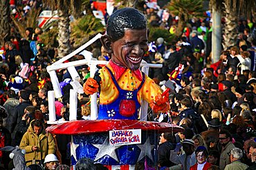
[[[134,145],[141,143],[141,129],[125,129],[109,131],[109,144],[120,145]]]

